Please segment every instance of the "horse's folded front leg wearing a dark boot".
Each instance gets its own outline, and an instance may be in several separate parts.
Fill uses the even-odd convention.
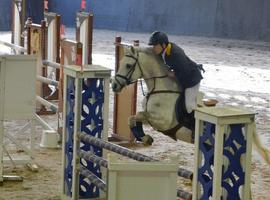
[[[141,141],[145,145],[151,145],[154,140],[150,135],[144,133],[142,126],[147,123],[146,119],[146,112],[138,112],[136,115],[129,117],[129,127],[136,140]]]

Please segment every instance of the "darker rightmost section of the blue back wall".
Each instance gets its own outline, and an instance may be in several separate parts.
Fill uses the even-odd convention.
[[[214,35],[270,41],[269,11],[269,0],[219,0]]]

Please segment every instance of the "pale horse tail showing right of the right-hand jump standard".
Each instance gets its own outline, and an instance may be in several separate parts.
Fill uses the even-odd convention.
[[[253,143],[257,152],[263,157],[265,162],[270,165],[270,150],[262,143],[260,136],[256,132],[256,126],[253,129]]]

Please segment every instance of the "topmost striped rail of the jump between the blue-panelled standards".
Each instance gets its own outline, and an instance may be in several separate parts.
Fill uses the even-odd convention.
[[[119,145],[116,145],[116,144],[113,144],[113,143],[110,143],[110,142],[106,142],[102,139],[99,139],[99,138],[96,138],[96,137],[93,137],[93,136],[90,136],[90,135],[86,135],[84,133],[78,133],[78,137],[84,141],[84,142],[87,142],[89,144],[92,144],[94,146],[97,146],[97,147],[100,147],[100,148],[104,148],[104,149],[107,149],[107,150],[110,150],[110,151],[113,151],[115,153],[118,153],[122,156],[126,156],[126,157],[129,157],[131,159],[134,159],[134,160],[137,160],[137,161],[158,161],[156,159],[153,159],[151,157],[148,157],[146,155],[143,155],[143,154],[140,154],[140,153],[137,153],[135,151],[132,151],[128,148],[125,148],[125,147],[121,147]],[[190,179],[192,180],[193,178],[193,173],[189,170],[186,170],[186,169],[183,169],[183,168],[178,168],[178,176],[181,176],[183,178],[186,178],[186,179]]]

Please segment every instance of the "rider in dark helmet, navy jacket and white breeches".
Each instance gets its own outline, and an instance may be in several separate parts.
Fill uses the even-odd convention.
[[[194,108],[197,106],[196,96],[199,91],[200,81],[203,79],[202,65],[192,61],[182,48],[175,43],[169,42],[166,33],[155,31],[151,34],[148,45],[153,46],[153,50],[160,55],[164,63],[171,70],[169,76],[176,77],[179,85],[184,89],[182,100],[182,110],[184,112],[177,116],[179,121],[184,123],[184,127],[190,131],[195,129]],[[179,104],[178,104],[179,105]],[[178,109],[179,110],[179,109]]]

